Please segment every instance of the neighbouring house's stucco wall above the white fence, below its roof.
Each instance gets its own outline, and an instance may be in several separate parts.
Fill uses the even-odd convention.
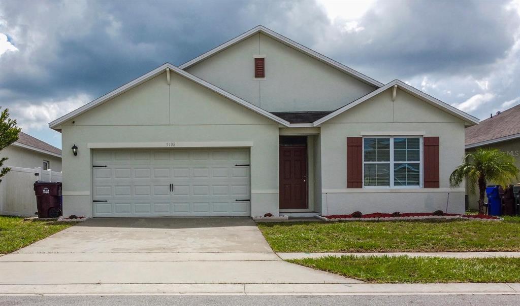
[[[42,168],[43,161],[47,160],[50,163],[50,169],[61,171],[61,158],[13,145],[3,149],[0,157],[9,158],[4,163],[5,165],[21,168]]]

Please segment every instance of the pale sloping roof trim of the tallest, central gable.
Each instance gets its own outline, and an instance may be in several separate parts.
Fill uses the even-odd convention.
[[[225,50],[225,49],[227,49],[227,48],[229,48],[229,47],[231,47],[231,46],[233,46],[235,44],[240,43],[240,41],[242,41],[244,39],[247,39],[247,38],[249,38],[249,37],[251,37],[251,36],[253,36],[253,35],[257,34],[257,33],[262,33],[262,34],[264,34],[266,36],[269,36],[269,37],[279,41],[280,43],[282,43],[282,44],[284,44],[286,46],[289,46],[289,47],[291,47],[293,49],[296,49],[296,50],[298,50],[298,51],[300,51],[300,52],[302,52],[304,54],[307,54],[309,57],[317,59],[318,61],[323,62],[323,63],[325,63],[325,64],[327,64],[329,66],[332,66],[332,67],[338,69],[339,71],[344,72],[344,73],[346,73],[346,74],[348,74],[348,75],[350,75],[350,76],[352,76],[352,77],[354,77],[354,78],[356,78],[356,79],[358,79],[358,80],[360,80],[360,81],[362,81],[362,82],[364,82],[364,83],[366,83],[368,85],[371,85],[371,86],[373,86],[375,88],[379,88],[379,87],[383,86],[383,84],[381,82],[378,82],[378,81],[376,81],[376,80],[374,80],[374,79],[372,79],[372,78],[370,78],[370,77],[368,77],[368,76],[366,76],[366,75],[364,75],[364,74],[362,74],[360,72],[355,71],[354,69],[352,69],[350,67],[347,67],[347,66],[345,66],[345,65],[343,65],[343,64],[341,64],[339,62],[336,62],[336,61],[326,57],[323,54],[320,54],[320,53],[318,53],[318,52],[316,52],[314,50],[311,50],[311,49],[309,49],[309,48],[307,48],[307,47],[305,47],[303,45],[300,45],[300,44],[296,43],[296,41],[293,41],[293,40],[291,40],[291,39],[289,39],[289,38],[287,38],[285,36],[282,36],[282,35],[274,32],[274,31],[272,31],[270,29],[267,29],[267,27],[265,27],[263,25],[257,25],[255,27],[253,27],[253,29],[251,29],[251,30],[249,30],[249,31],[247,31],[247,32],[245,32],[243,34],[240,34],[239,36],[237,36],[237,37],[235,37],[235,38],[233,38],[231,40],[226,41],[226,43],[224,43],[224,44],[222,44],[222,45],[220,45],[220,46],[218,46],[216,48],[213,48],[210,51],[207,51],[207,52],[199,55],[198,57],[196,57],[196,58],[194,58],[194,59],[192,59],[192,60],[190,60],[190,61],[188,61],[188,62],[186,62],[186,63],[184,63],[182,65],[180,65],[179,68],[187,69],[187,68],[189,68],[189,67],[191,67],[191,66],[193,66],[193,65],[195,65],[195,64],[197,64],[197,63],[199,63],[199,62],[201,62],[201,61],[203,61],[203,60],[205,60],[205,59],[207,59],[209,57],[211,57],[212,55],[214,55],[214,54],[216,54],[216,53],[218,53],[220,51],[223,51],[223,50]]]

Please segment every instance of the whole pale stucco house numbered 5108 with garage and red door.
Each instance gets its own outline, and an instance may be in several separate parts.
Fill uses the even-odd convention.
[[[66,216],[277,216],[433,212],[448,192],[463,213],[448,178],[477,123],[257,26],[49,127]]]

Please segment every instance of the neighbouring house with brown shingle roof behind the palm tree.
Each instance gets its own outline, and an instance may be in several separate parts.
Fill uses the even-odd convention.
[[[500,154],[510,155],[515,159],[515,165],[520,168],[520,105],[516,105],[496,115],[490,115],[478,126],[466,128],[466,151],[478,148],[499,149]],[[511,184],[519,183],[513,179]],[[493,185],[493,182],[488,182]],[[478,209],[478,187],[471,192],[466,186],[469,208]],[[486,200],[487,202],[487,200]]]

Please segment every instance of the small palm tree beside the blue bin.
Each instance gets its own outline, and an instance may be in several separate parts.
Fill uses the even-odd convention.
[[[467,178],[470,191],[475,192],[478,184],[478,213],[484,214],[484,193],[487,182],[498,185],[508,185],[512,179],[518,177],[518,168],[514,164],[514,157],[504,154],[498,149],[478,148],[473,152],[466,152],[463,162],[450,175],[450,186],[459,187]]]

